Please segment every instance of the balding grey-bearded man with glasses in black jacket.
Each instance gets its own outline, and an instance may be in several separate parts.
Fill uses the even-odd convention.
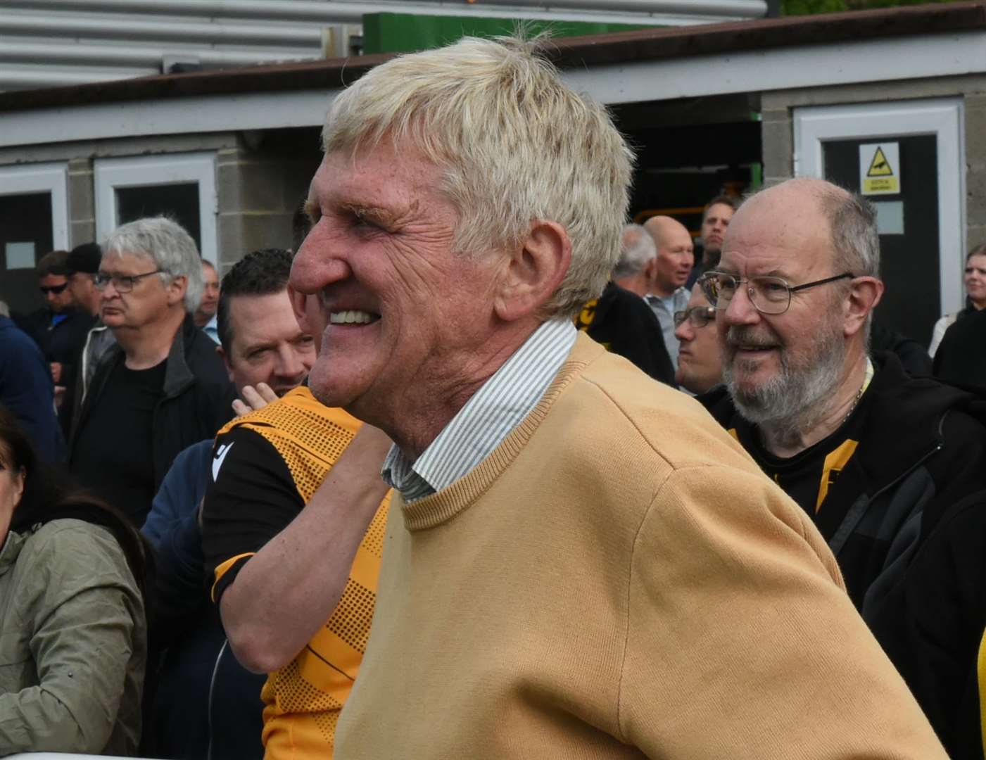
[[[753,195],[699,280],[726,381],[702,400],[817,525],[950,756],[982,757],[986,403],[871,357],[879,273],[865,199],[807,178]]]

